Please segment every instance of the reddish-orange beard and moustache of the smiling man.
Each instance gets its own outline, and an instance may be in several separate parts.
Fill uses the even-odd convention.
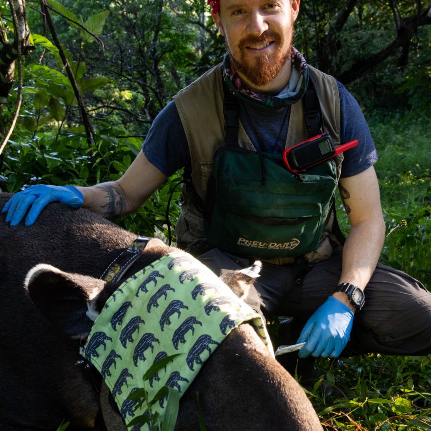
[[[238,49],[241,53],[241,58],[239,61],[234,58],[232,51],[225,39],[226,46],[228,47],[231,65],[237,70],[237,72],[240,72],[240,74],[243,75],[251,84],[255,85],[256,87],[263,87],[275,79],[283,66],[286,64],[287,60],[290,59],[290,55],[292,52],[293,34],[294,29],[292,26],[290,41],[288,43],[287,50],[285,51],[282,50],[284,42],[283,38],[280,36],[280,34],[272,30],[265,31],[260,37],[249,36],[247,38],[244,38],[238,44]],[[254,61],[246,59],[246,53],[244,52],[244,50],[246,50],[248,46],[262,45],[270,41],[274,41],[274,44],[277,48],[275,50],[275,55],[272,62],[269,59],[269,54],[266,53],[256,56],[256,59]]]

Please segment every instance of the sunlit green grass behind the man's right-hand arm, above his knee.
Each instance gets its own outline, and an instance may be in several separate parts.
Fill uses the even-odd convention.
[[[380,262],[422,281],[430,287],[431,250],[431,134],[425,112],[375,112],[369,126],[379,154],[375,170],[386,224]],[[337,201],[341,229],[349,221]]]

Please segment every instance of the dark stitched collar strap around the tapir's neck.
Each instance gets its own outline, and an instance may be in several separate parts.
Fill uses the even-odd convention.
[[[105,269],[100,277],[105,281],[116,282],[125,274],[125,272],[137,261],[141,253],[148,247],[166,246],[162,240],[158,238],[137,237],[130,247],[127,247],[119,254]]]

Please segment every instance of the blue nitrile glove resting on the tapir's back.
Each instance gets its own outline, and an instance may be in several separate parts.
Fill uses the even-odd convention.
[[[25,225],[30,226],[35,222],[42,209],[50,202],[61,202],[72,208],[81,208],[84,196],[73,186],[37,184],[14,194],[6,202],[1,212],[2,214],[7,212],[6,222],[10,222],[11,226],[16,226],[31,207],[25,219]]]

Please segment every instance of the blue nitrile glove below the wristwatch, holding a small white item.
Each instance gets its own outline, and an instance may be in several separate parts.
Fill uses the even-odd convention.
[[[314,357],[337,358],[349,341],[353,325],[353,312],[347,305],[328,297],[308,319],[297,343],[306,343],[299,351],[300,358]]]

